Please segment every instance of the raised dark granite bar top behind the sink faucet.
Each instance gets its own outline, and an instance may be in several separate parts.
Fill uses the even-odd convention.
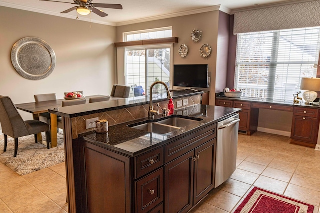
[[[183,98],[183,97],[197,95],[197,94],[203,94],[203,91],[193,91],[193,90],[171,91],[171,96],[173,99]],[[153,97],[153,103],[166,100],[166,94],[164,96],[165,97],[160,97],[160,98]],[[122,109],[128,106],[131,107],[131,106],[149,104],[150,103],[149,98],[150,98],[149,96],[138,96],[138,97],[117,99],[117,100],[101,101],[101,102],[89,103],[89,104],[56,107],[53,109],[49,109],[49,112],[56,115],[73,118],[73,117],[89,115],[93,113]]]

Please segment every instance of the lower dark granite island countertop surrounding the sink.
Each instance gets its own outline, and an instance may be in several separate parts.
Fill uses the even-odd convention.
[[[193,115],[191,114],[191,116],[201,118],[203,120],[197,121],[194,124],[174,130],[169,133],[150,133],[127,126],[128,124],[146,120],[147,118],[145,118],[110,126],[108,133],[90,132],[83,133],[79,135],[79,137],[84,137],[87,141],[98,146],[102,146],[125,155],[136,156],[149,150],[150,148],[161,146],[165,143],[171,142],[172,140],[183,137],[195,130],[202,129],[205,126],[224,120],[225,118],[241,110],[239,108],[210,105],[196,106],[200,107],[200,110],[198,110]],[[179,111],[175,111],[175,113],[179,114]],[[161,117],[156,117],[155,119],[158,118]]]

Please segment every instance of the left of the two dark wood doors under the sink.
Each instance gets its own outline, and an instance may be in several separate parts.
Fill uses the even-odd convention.
[[[194,150],[164,166],[165,213],[185,213],[193,203]]]

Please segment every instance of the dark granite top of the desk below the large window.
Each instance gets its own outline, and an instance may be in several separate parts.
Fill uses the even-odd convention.
[[[286,106],[301,106],[301,107],[312,107],[312,108],[320,108],[319,105],[306,105],[303,103],[293,103],[293,96],[292,100],[280,100],[280,99],[272,99],[272,100],[264,100],[259,98],[251,98],[251,97],[240,97],[240,98],[229,98],[225,97],[224,95],[216,96],[216,99],[224,99],[224,100],[233,100],[233,101],[250,101],[256,103],[269,103],[269,104],[280,104]]]

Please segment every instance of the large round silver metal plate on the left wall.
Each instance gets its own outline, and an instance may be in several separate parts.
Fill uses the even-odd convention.
[[[53,49],[42,39],[25,37],[13,45],[11,61],[21,76],[39,80],[52,73],[56,57]]]

